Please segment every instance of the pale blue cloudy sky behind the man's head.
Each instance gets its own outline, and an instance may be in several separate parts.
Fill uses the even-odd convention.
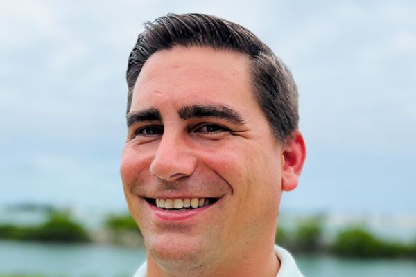
[[[0,206],[126,208],[128,55],[146,21],[204,12],[291,69],[308,156],[283,210],[415,213],[416,2],[0,0]]]

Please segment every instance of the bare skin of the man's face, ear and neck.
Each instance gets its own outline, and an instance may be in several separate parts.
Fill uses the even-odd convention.
[[[150,277],[275,276],[279,269],[281,191],[297,186],[306,150],[300,132],[285,145],[272,135],[248,64],[239,53],[179,47],[153,54],[137,78],[120,171]],[[192,107],[223,114],[184,113]],[[158,217],[145,200],[191,197],[219,200],[180,220],[169,213],[181,212]]]

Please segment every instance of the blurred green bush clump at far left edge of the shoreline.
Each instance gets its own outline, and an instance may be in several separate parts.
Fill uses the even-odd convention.
[[[0,226],[0,238],[11,240],[36,240],[43,242],[87,242],[87,231],[71,219],[69,213],[51,211],[43,224],[36,226]]]

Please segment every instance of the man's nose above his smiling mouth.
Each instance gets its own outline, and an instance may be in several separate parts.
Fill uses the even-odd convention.
[[[164,181],[175,181],[192,175],[196,157],[180,135],[163,134],[150,164],[150,173]]]

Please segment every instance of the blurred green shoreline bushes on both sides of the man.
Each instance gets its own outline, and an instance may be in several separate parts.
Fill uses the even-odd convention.
[[[52,210],[48,211],[48,215],[46,222],[35,226],[0,225],[0,239],[89,242],[91,238],[94,238],[95,242],[122,244],[129,247],[143,246],[141,232],[129,213],[107,215],[103,222],[104,228],[98,234],[94,233],[95,237],[90,236],[85,228],[73,220],[66,211]],[[416,238],[413,243],[408,244],[386,241],[363,227],[354,226],[344,229],[332,242],[325,243],[322,217],[302,220],[290,229],[279,224],[275,242],[297,253],[333,253],[337,256],[358,258],[416,259]]]

